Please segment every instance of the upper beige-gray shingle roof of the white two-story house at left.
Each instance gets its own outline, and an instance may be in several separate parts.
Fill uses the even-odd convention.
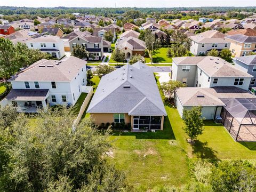
[[[20,71],[9,81],[69,82],[75,78],[78,71],[86,67],[86,61],[74,56],[63,59],[59,64],[58,62],[60,61],[39,60]]]

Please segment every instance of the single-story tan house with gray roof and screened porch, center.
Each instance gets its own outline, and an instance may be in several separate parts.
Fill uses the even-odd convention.
[[[132,130],[163,130],[167,115],[153,71],[140,61],[103,76],[86,112],[98,125],[131,124]]]

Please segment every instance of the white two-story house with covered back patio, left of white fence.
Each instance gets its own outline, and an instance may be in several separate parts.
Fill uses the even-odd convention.
[[[75,105],[86,85],[86,61],[69,57],[62,61],[42,59],[9,79],[12,90],[6,105],[18,112],[34,113],[47,105]]]

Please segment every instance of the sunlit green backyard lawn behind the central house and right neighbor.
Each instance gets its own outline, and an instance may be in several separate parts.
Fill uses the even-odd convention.
[[[99,78],[93,77],[93,81],[96,87]],[[159,82],[157,84],[159,86]],[[191,158],[249,159],[255,162],[256,142],[235,142],[222,124],[213,121],[205,121],[203,134],[195,145],[189,145],[178,110],[167,105],[165,109],[167,116],[163,131],[114,131],[110,137],[114,154],[110,161],[127,173],[131,186],[147,191],[156,185],[184,185],[190,181]]]

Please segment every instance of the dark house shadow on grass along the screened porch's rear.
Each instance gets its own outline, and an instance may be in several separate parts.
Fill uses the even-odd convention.
[[[152,132],[120,132],[114,131],[114,135],[135,136],[136,139],[171,139],[175,140],[175,136],[168,117],[164,118],[164,130]]]

